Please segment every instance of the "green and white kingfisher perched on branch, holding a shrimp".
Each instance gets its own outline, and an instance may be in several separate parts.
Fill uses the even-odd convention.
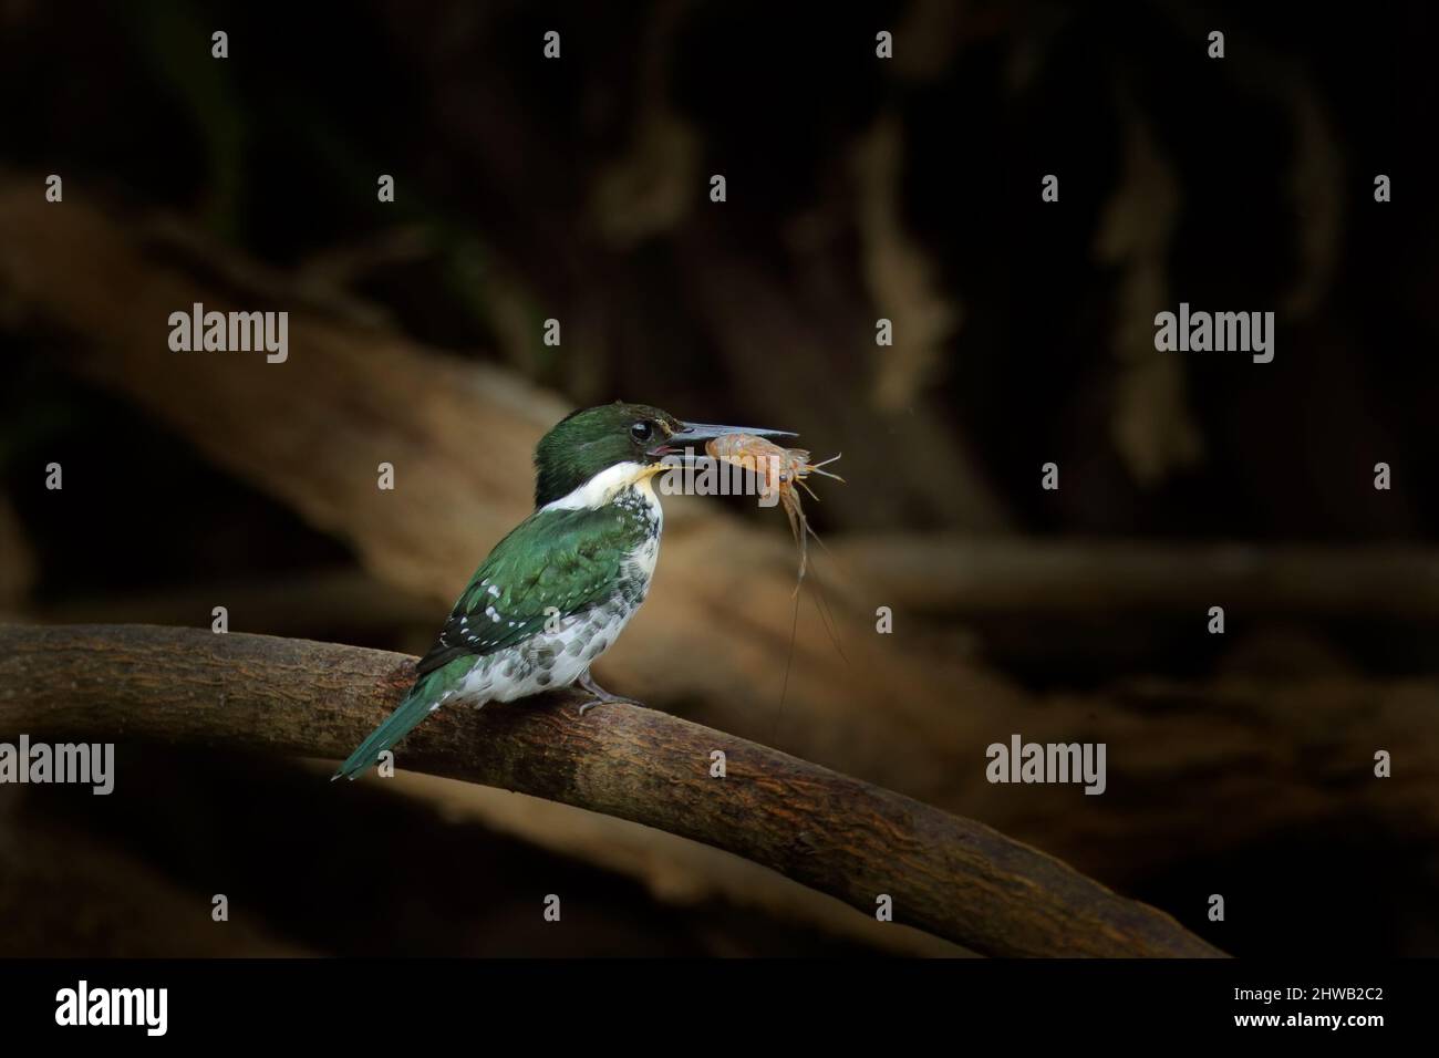
[[[652,479],[725,433],[794,436],[622,402],[561,419],[535,448],[534,511],[475,570],[414,687],[334,777],[357,777],[442,705],[478,708],[571,684],[590,695],[581,714],[633,702],[594,682],[590,665],[649,593],[665,523]]]

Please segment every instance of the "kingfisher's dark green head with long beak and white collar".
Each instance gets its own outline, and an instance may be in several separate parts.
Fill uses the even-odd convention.
[[[794,436],[682,422],[659,407],[620,400],[571,412],[535,448],[535,507],[600,507],[616,491],[663,469],[665,456],[678,456],[724,433]]]

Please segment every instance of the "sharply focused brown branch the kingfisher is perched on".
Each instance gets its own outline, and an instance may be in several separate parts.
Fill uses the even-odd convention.
[[[413,678],[409,658],[194,629],[0,629],[0,725],[340,757]],[[573,694],[436,714],[406,767],[560,800],[764,864],[986,954],[1216,956],[1168,915],[909,797],[629,705]],[[709,774],[724,750],[728,774]],[[119,782],[124,782],[121,776]],[[342,787],[332,787],[344,796]]]

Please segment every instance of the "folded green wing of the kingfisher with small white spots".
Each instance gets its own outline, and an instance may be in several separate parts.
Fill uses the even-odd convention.
[[[475,570],[417,672],[521,643],[544,628],[551,606],[568,616],[606,602],[642,538],[614,505],[535,511]]]

